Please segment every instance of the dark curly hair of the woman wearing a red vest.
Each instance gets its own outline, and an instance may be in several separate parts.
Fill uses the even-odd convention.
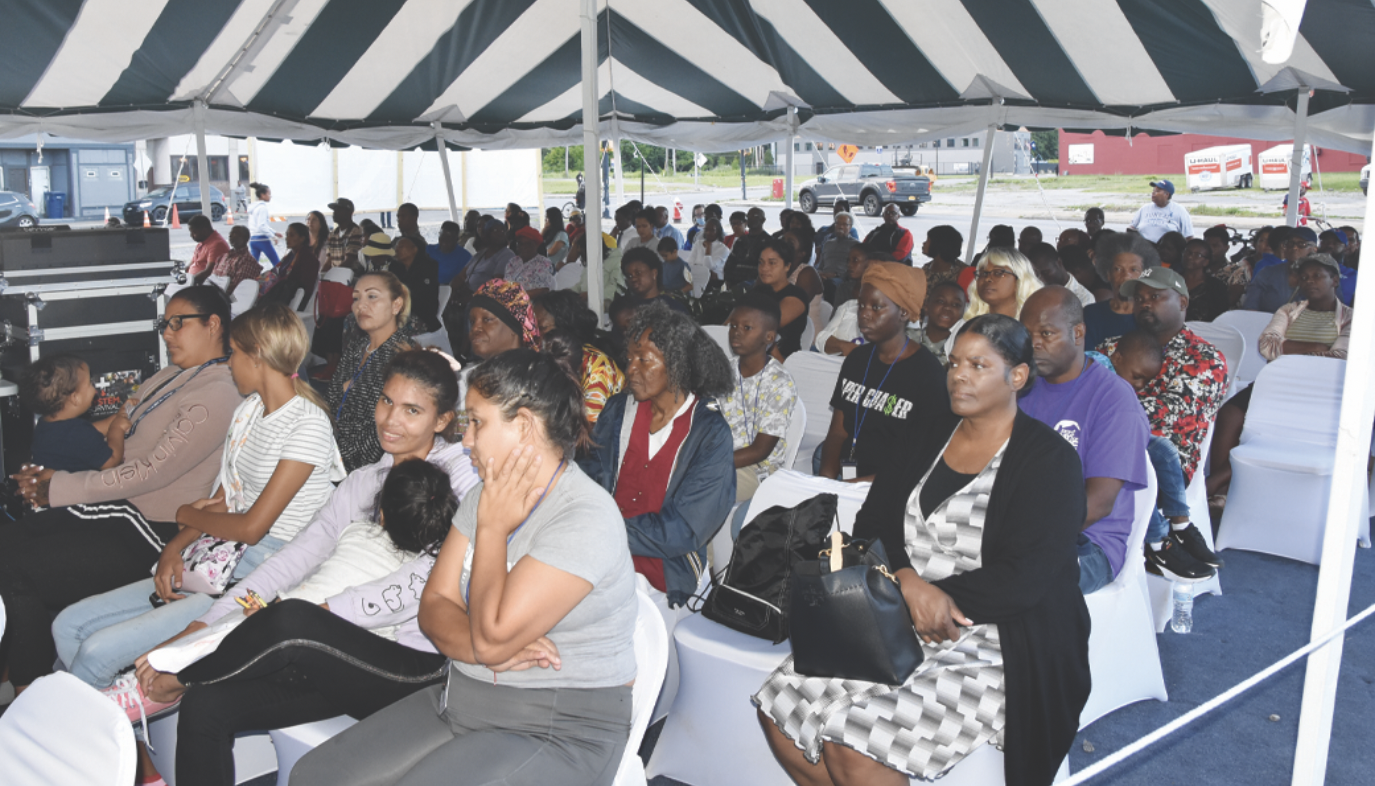
[[[635,311],[626,328],[626,342],[639,341],[645,333],[659,348],[668,367],[668,382],[698,398],[725,396],[734,385],[730,361],[710,335],[690,317],[653,304]]]

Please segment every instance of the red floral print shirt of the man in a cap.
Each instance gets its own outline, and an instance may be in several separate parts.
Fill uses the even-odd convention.
[[[1116,338],[1099,345],[1112,356]],[[1202,466],[1203,440],[1226,398],[1226,359],[1188,327],[1165,345],[1165,363],[1155,379],[1138,393],[1151,434],[1174,442],[1184,467],[1184,481]]]

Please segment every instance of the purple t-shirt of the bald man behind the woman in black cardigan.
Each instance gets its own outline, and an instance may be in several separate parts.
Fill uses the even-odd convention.
[[[1085,360],[1084,371],[1070,382],[1052,385],[1037,379],[1019,405],[1074,445],[1085,478],[1122,481],[1112,513],[1084,530],[1103,550],[1116,576],[1136,515],[1133,495],[1145,488],[1151,471],[1145,458],[1151,427],[1136,392],[1116,374]]]

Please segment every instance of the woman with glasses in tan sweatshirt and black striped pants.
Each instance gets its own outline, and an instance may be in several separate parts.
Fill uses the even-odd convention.
[[[51,506],[0,524],[0,599],[10,682],[52,671],[52,617],[84,598],[147,579],[177,533],[177,508],[209,496],[224,434],[242,400],[230,375],[230,300],[213,286],[180,290],[158,322],[168,366],[146,379],[107,427],[122,429],[124,463],[55,473],[25,466],[25,499]]]

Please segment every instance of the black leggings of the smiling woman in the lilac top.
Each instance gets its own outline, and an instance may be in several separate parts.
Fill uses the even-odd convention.
[[[367,717],[443,682],[444,655],[384,639],[307,600],[253,614],[182,669],[177,783],[234,783],[234,735]]]

